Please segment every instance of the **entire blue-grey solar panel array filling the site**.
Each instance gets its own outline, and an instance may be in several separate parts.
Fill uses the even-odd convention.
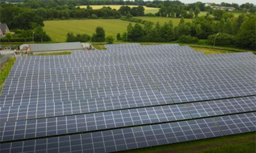
[[[255,55],[178,44],[18,57],[1,152],[114,152],[256,131]]]

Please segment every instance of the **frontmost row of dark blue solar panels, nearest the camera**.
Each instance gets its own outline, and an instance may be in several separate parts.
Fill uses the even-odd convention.
[[[1,143],[2,152],[113,152],[255,131],[256,113]]]

